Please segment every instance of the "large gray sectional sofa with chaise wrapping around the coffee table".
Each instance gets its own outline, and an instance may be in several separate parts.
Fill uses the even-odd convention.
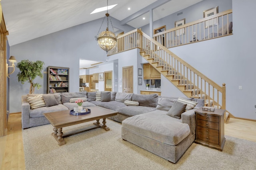
[[[37,99],[38,96],[42,96],[46,106],[38,108],[33,106],[32,109],[31,100]],[[122,92],[28,94],[22,96],[22,128],[48,124],[43,113],[73,109],[77,104],[71,101],[76,98],[87,100],[82,104],[84,107],[100,106],[118,111],[117,115],[108,118],[122,123],[122,139],[173,163],[176,163],[194,142],[196,133],[194,111],[204,106],[202,99],[168,98],[157,94]],[[188,101],[188,104],[186,101],[182,103],[184,102],[182,100]],[[190,102],[193,107],[188,107],[191,106]],[[178,110],[175,109],[176,107]],[[173,112],[177,112],[178,115],[173,115]]]

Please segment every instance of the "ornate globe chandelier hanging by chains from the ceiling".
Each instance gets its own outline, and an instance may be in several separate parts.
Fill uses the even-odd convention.
[[[107,6],[108,6],[108,0],[107,0]],[[108,53],[108,51],[110,51],[111,49],[116,47],[117,40],[116,40],[116,35],[114,33],[114,27],[112,25],[112,21],[110,20],[110,16],[108,14],[108,8],[107,8],[106,17],[107,17],[107,28],[106,28],[106,31],[102,31],[99,34],[101,26],[102,26],[102,23],[105,20],[105,17],[104,17],[104,19],[103,19],[103,21],[102,21],[102,23],[100,25],[100,29],[99,29],[97,35],[95,36],[95,38],[96,38],[96,40],[98,42],[98,46]],[[113,32],[108,31],[108,17],[109,17],[110,23],[112,25]]]

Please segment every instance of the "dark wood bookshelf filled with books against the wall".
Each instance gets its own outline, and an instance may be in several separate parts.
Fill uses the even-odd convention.
[[[47,67],[47,93],[69,92],[69,68]]]

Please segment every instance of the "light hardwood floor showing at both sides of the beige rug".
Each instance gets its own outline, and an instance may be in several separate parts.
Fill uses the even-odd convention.
[[[225,124],[225,135],[256,142],[256,121],[230,118]],[[57,143],[56,143],[57,145]],[[0,137],[1,170],[25,170],[21,114],[11,114],[8,135]],[[225,146],[224,146],[225,147]]]

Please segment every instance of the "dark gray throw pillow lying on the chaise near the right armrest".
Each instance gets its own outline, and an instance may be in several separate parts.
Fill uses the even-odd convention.
[[[166,115],[169,115],[171,117],[174,117],[176,119],[181,118],[181,113],[185,111],[187,104],[183,104],[181,102],[174,102],[170,110],[166,113]]]

